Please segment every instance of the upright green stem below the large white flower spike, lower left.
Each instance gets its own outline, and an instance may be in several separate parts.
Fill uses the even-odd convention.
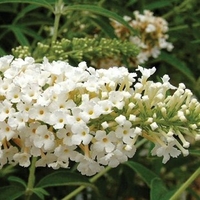
[[[31,166],[29,168],[28,184],[25,192],[25,200],[29,200],[33,193],[33,187],[35,184],[35,163],[37,161],[36,157],[32,158]]]

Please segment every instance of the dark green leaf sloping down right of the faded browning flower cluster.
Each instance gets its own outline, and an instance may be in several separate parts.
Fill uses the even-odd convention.
[[[184,74],[188,79],[192,82],[195,82],[194,75],[190,68],[186,66],[184,62],[176,58],[173,54],[169,54],[166,52],[161,52],[158,60],[165,61],[166,63],[172,65],[174,68],[179,70],[182,74]]]

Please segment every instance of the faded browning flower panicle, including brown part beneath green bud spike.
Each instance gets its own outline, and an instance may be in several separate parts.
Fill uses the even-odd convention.
[[[121,40],[129,41],[139,48],[139,52],[134,58],[127,59],[129,66],[137,67],[150,58],[157,58],[161,50],[171,51],[173,49],[173,44],[168,42],[168,22],[164,18],[154,16],[154,13],[149,10],[144,10],[143,13],[134,11],[132,17],[124,16],[124,20],[136,30],[138,35],[133,35],[130,29],[117,21],[112,20],[111,25]],[[96,68],[120,66],[121,63],[118,56],[103,57],[98,62],[92,62]]]

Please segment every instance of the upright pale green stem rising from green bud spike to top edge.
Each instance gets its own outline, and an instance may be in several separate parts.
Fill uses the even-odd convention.
[[[53,27],[53,36],[52,36],[52,42],[56,41],[58,36],[58,27],[60,22],[60,17],[62,15],[62,10],[64,8],[62,0],[58,0],[58,2],[55,5],[55,21],[54,21],[54,27]]]

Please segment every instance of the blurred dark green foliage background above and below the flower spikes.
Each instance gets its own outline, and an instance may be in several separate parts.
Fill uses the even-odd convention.
[[[173,43],[174,49],[170,53],[162,51],[157,59],[150,59],[144,67],[156,66],[155,79],[167,73],[174,85],[184,82],[200,100],[200,1],[65,0],[64,2],[67,7],[60,19],[57,39],[59,41],[67,39],[72,42],[74,38],[87,38],[88,41],[97,35],[99,43],[95,43],[95,48],[99,47],[100,38],[118,39],[109,24],[109,18],[125,23],[122,19],[124,15],[132,16],[133,11],[142,12],[145,9],[153,11],[156,16],[162,16],[169,23],[169,41]],[[41,54],[37,52],[37,44],[38,42],[52,44],[48,27],[54,26],[54,4],[54,0],[0,0],[0,55],[11,54],[13,48],[21,45],[30,48],[27,51],[30,55],[42,59]],[[78,46],[80,50],[82,47],[80,44]],[[127,53],[129,50],[123,54],[121,46],[118,50],[117,53],[123,57],[124,64],[126,57],[137,53],[135,47],[132,49],[132,54]],[[104,52],[101,54],[102,57],[114,55],[110,49],[101,49],[91,55],[85,51],[81,54],[82,57],[73,54],[76,56],[69,61],[77,63],[80,58],[84,58],[90,62],[102,51]],[[130,68],[130,71],[134,69]],[[31,199],[64,199],[77,188],[75,185],[87,187],[79,194],[80,199],[84,200],[170,199],[171,194],[199,167],[199,143],[192,145],[190,156],[171,159],[166,165],[162,165],[160,158],[148,154],[151,148],[151,145],[141,145],[131,161],[108,171],[98,180],[79,176],[75,164],[72,164],[71,170],[67,172],[38,168],[34,195]],[[147,156],[142,156],[143,154]],[[28,173],[28,169],[20,167],[7,166],[0,170],[0,199],[23,199],[21,195],[27,186]],[[199,181],[196,179],[187,188],[188,200],[200,199]],[[48,185],[50,182],[52,184]],[[78,198],[76,196],[70,199]]]

